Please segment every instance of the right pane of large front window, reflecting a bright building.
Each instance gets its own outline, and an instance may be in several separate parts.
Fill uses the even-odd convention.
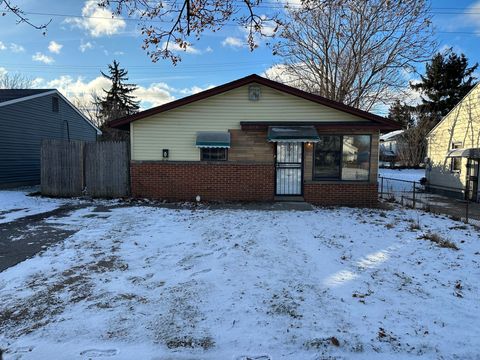
[[[370,173],[370,135],[343,137],[342,180],[366,181]]]

